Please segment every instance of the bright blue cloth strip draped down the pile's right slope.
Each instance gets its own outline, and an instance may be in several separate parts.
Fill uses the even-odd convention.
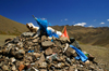
[[[85,56],[85,54],[80,51],[78,48],[74,47],[73,45],[70,45],[70,47],[72,47],[73,49],[75,49],[75,52],[77,53],[77,57],[75,57],[75,59],[81,59],[83,62],[85,62],[88,58]]]

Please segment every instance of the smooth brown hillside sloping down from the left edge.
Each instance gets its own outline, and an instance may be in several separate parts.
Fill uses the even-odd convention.
[[[25,25],[0,15],[0,34],[21,34],[27,30]]]

